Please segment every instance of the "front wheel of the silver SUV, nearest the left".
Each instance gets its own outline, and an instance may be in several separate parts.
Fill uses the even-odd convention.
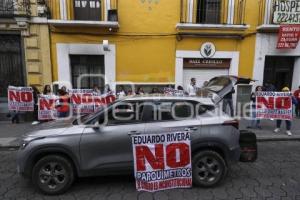
[[[74,179],[72,163],[60,155],[45,156],[32,169],[33,184],[47,195],[66,192]]]

